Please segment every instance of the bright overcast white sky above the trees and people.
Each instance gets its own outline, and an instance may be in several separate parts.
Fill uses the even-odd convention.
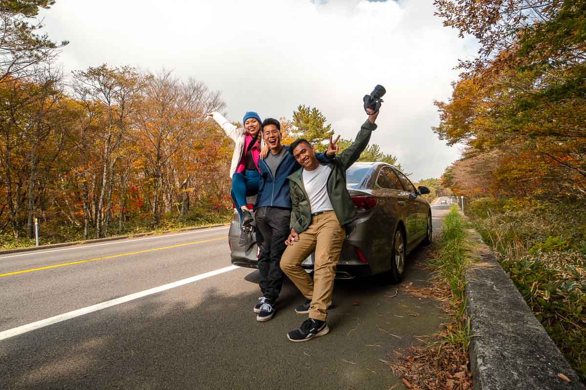
[[[291,117],[303,103],[354,137],[362,96],[382,84],[371,142],[419,180],[459,156],[430,129],[433,101],[449,97],[452,68],[476,51],[434,11],[432,0],[57,0],[41,16],[53,40],[70,41],[66,71],[165,67],[221,90],[231,120],[250,110]]]

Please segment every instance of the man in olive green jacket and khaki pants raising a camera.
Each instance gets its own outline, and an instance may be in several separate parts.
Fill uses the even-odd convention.
[[[301,169],[289,178],[291,193],[291,234],[281,257],[281,269],[307,299],[295,312],[309,313],[301,327],[287,334],[291,341],[307,341],[329,332],[327,309],[332,301],[335,267],[345,225],[357,218],[354,203],[346,189],[346,170],[360,157],[369,143],[379,112],[367,109],[369,118],[360,127],[356,140],[331,163],[320,164],[306,140],[296,140],[290,151]],[[337,149],[337,146],[336,146]],[[301,267],[315,251],[314,279]]]

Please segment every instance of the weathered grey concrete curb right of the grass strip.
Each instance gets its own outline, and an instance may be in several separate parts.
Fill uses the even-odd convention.
[[[480,247],[466,272],[473,389],[586,389],[476,230],[471,239]]]

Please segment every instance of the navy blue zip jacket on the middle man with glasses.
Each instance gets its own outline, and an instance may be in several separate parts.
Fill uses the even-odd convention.
[[[258,159],[258,170],[260,171],[260,181],[258,182],[257,201],[254,205],[256,210],[259,207],[272,206],[291,209],[291,197],[289,196],[289,180],[287,176],[301,168],[293,154],[289,151],[289,146],[284,145],[285,156],[281,159],[275,171],[275,177],[272,177],[271,168],[262,158]],[[269,151],[269,153],[271,153]],[[325,153],[316,153],[320,163],[329,163],[333,159],[326,157]]]

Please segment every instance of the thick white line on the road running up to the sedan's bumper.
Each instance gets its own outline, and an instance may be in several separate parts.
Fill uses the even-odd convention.
[[[143,296],[156,294],[157,292],[165,291],[165,290],[168,290],[171,288],[175,288],[175,287],[179,287],[179,286],[182,286],[182,285],[185,285],[188,283],[196,282],[198,280],[209,278],[209,277],[212,277],[215,275],[223,274],[224,272],[236,270],[237,268],[240,268],[240,267],[237,267],[236,265],[230,265],[230,267],[220,268],[219,270],[206,272],[205,274],[196,275],[194,277],[179,280],[179,281],[172,282],[169,284],[163,284],[162,286],[149,288],[148,290],[135,292],[134,294],[130,294],[127,296],[121,296],[120,298],[112,299],[111,301],[97,303],[97,305],[87,306],[87,308],[73,310],[73,312],[63,313],[58,316],[50,317],[50,318],[47,318],[44,320],[29,323],[27,325],[22,325],[19,327],[8,329],[8,330],[5,330],[4,332],[0,332],[0,341],[8,339],[9,337],[18,336],[19,334],[22,334],[22,333],[30,332],[31,330],[36,330],[36,329],[40,329],[45,326],[53,325],[57,322],[62,322],[65,320],[69,320],[71,318],[83,316],[84,314],[97,312],[98,310],[110,308],[115,305],[120,305],[120,303],[134,301],[134,299],[142,298]]]

